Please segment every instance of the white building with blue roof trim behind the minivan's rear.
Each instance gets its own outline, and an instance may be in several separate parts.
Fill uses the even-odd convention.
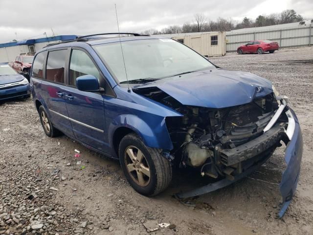
[[[75,39],[76,35],[60,35],[0,44],[0,63],[12,62],[19,54],[34,54],[47,44]]]

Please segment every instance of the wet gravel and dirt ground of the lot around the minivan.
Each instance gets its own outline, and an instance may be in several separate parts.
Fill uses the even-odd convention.
[[[147,198],[134,192],[116,161],[66,136],[46,137],[32,100],[18,99],[0,104],[0,234],[146,235],[158,228],[149,234],[313,235],[313,47],[210,60],[266,77],[290,97],[304,152],[298,188],[283,219],[276,214],[284,147],[229,187],[179,202],[173,193],[203,179],[175,172],[166,191]],[[157,225],[163,222],[171,225]]]

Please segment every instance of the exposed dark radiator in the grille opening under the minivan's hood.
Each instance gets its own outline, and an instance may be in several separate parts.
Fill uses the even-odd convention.
[[[236,125],[241,127],[258,121],[258,117],[264,114],[264,107],[265,98],[258,98],[248,104],[221,109],[219,112],[224,131],[229,133]]]

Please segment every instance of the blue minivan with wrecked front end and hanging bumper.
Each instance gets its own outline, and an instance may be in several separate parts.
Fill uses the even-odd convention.
[[[283,141],[282,216],[302,158],[287,98],[267,79],[221,69],[175,40],[122,35],[81,36],[35,55],[30,86],[45,134],[64,133],[118,159],[143,195],[164,190],[173,167],[216,179],[179,198],[245,177]]]

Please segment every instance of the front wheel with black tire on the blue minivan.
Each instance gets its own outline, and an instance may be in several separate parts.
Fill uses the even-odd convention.
[[[170,184],[172,166],[169,161],[160,155],[158,149],[147,147],[136,134],[126,135],[118,152],[126,179],[140,194],[155,196]]]

